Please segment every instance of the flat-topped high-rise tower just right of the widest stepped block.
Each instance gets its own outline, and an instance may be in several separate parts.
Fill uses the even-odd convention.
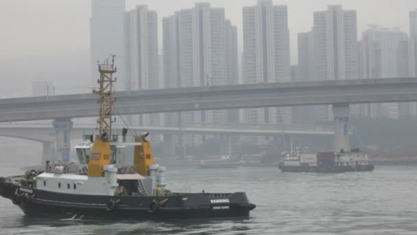
[[[244,83],[288,82],[291,79],[286,5],[260,0],[257,5],[243,8],[242,69]],[[246,109],[243,122],[291,122],[291,109]]]

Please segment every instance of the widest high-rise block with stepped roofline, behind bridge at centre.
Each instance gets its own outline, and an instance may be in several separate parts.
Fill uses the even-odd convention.
[[[228,85],[237,81],[237,30],[226,21],[223,8],[196,3],[192,9],[165,17],[163,53],[165,88]],[[165,121],[174,125],[225,123],[227,113],[184,112],[176,117],[165,115]]]

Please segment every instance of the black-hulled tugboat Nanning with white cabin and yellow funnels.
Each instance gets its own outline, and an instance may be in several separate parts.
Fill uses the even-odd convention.
[[[150,142],[142,135],[113,135],[114,56],[98,65],[99,135],[84,135],[75,146],[78,164],[46,161],[45,170],[1,177],[0,195],[28,216],[76,219],[217,219],[248,217],[256,206],[245,192],[182,193],[165,188],[165,170],[154,163]],[[131,138],[132,142],[127,142]],[[127,157],[134,159],[126,165]]]

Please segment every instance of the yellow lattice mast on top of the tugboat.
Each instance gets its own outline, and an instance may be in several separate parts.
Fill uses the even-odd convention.
[[[113,82],[116,82],[117,78],[113,80],[113,74],[117,72],[117,68],[114,66],[115,55],[111,56],[111,63],[109,63],[108,58],[104,60],[104,63],[98,63],[100,78],[97,83],[99,84],[99,90],[93,90],[93,93],[99,95],[100,109],[97,123],[99,124],[99,136],[104,142],[111,142],[112,123],[115,122],[115,119],[113,119],[113,105],[115,103]]]

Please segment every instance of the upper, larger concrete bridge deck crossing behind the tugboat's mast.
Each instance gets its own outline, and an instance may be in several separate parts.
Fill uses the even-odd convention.
[[[120,115],[215,109],[417,101],[417,78],[277,82],[116,93]],[[0,100],[0,122],[97,116],[97,96]]]

